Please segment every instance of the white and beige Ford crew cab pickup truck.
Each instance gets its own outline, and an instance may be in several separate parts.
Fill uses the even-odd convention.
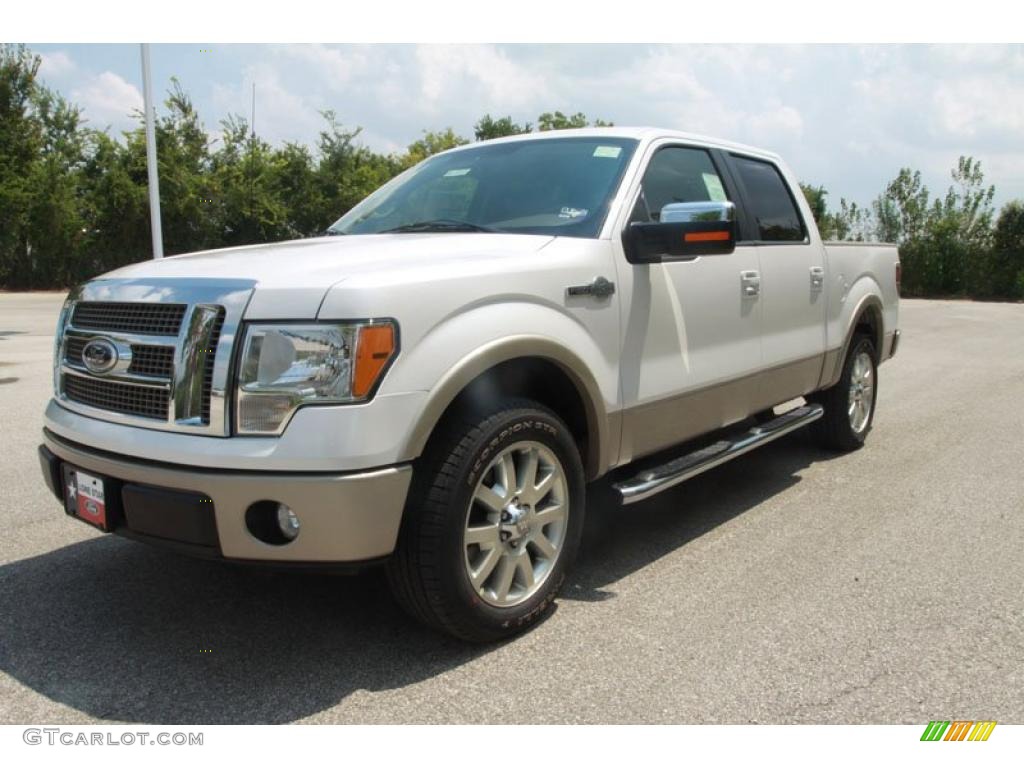
[[[326,237],[73,291],[43,474],[69,515],[182,552],[386,562],[414,616],[494,640],[554,600],[588,482],[631,504],[804,425],[859,447],[898,283],[894,247],[821,242],[770,153],[476,143]]]

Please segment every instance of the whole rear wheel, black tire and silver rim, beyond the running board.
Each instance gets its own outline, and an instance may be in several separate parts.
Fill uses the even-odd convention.
[[[807,398],[825,410],[824,416],[811,425],[822,447],[849,452],[864,444],[879,396],[877,360],[873,342],[867,336],[854,337],[839,381]]]

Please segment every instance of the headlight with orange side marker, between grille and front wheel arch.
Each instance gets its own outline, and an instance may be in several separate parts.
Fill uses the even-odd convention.
[[[366,400],[395,350],[392,323],[249,326],[238,431],[278,434],[300,406]]]

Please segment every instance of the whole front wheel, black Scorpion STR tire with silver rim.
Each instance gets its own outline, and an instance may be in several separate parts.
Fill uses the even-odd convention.
[[[551,607],[583,531],[572,434],[531,400],[450,423],[414,476],[388,580],[413,616],[464,640],[510,637]]]

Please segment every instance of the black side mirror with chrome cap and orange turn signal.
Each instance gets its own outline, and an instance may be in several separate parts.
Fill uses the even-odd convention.
[[[660,221],[634,221],[623,247],[631,264],[694,259],[736,250],[736,207],[728,201],[670,203]]]

